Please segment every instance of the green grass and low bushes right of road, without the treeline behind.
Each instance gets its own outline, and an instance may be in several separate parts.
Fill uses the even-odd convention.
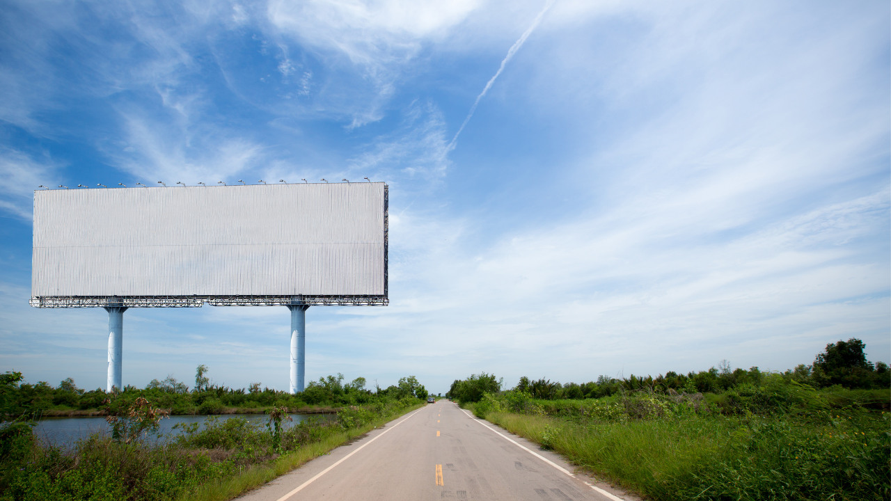
[[[652,499],[889,497],[888,390],[768,380],[744,395],[540,400],[509,391],[465,406]]]

